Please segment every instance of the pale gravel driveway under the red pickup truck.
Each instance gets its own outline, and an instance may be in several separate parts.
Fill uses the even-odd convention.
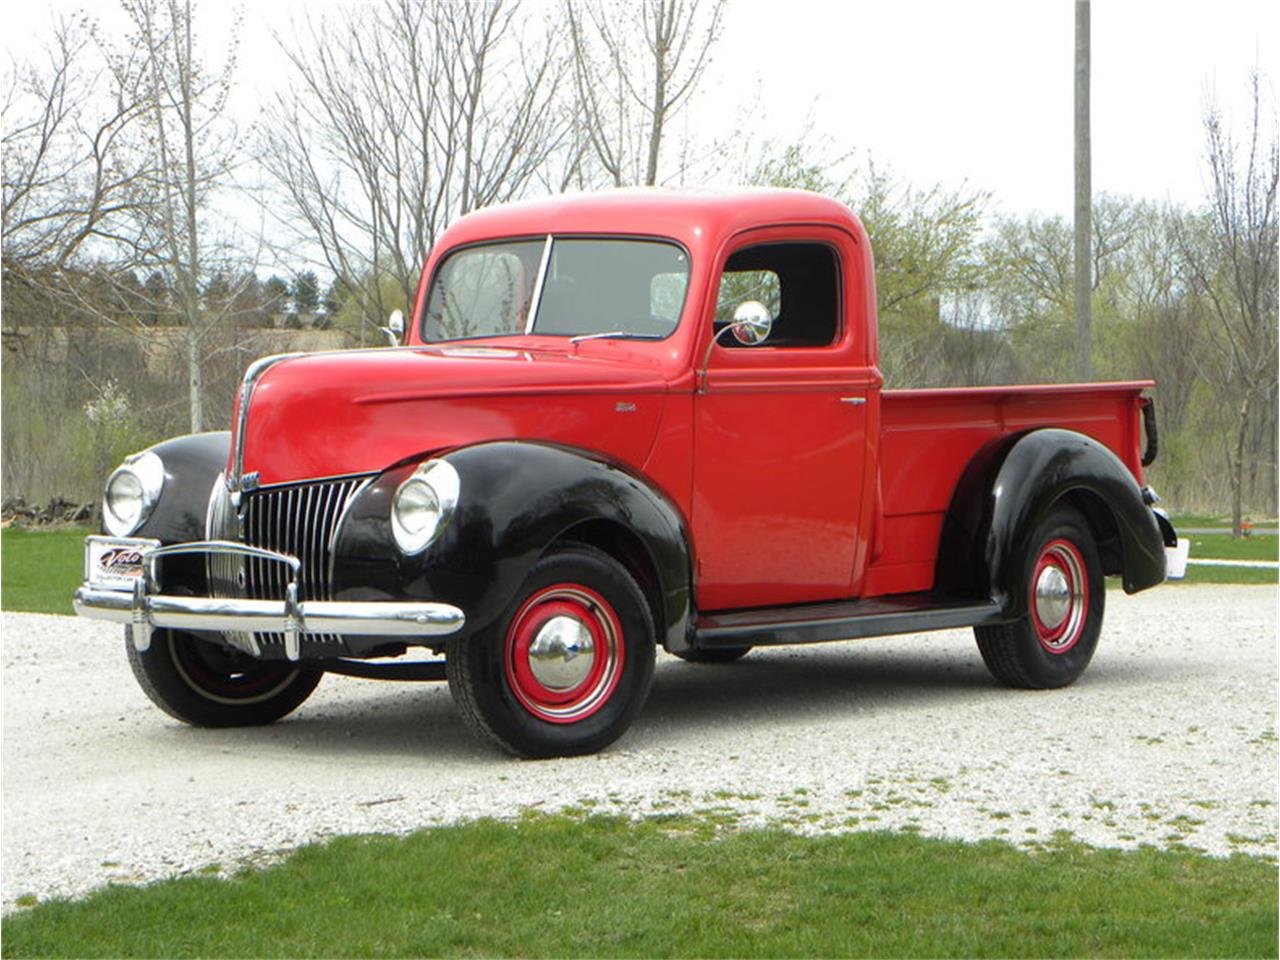
[[[540,763],[474,740],[443,684],[326,677],[273,727],[193,730],[143,698],[118,628],[5,613],[4,904],[530,806],[1274,856],[1276,599],[1110,591],[1056,692],[996,687],[966,630],[663,655],[627,736]]]

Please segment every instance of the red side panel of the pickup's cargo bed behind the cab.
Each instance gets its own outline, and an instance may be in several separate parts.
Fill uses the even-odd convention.
[[[988,440],[1042,426],[1092,436],[1142,483],[1142,392],[1125,383],[884,390],[872,557],[864,596],[931,590],[951,494]]]

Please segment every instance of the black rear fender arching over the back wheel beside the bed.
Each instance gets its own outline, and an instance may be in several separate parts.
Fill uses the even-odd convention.
[[[1000,438],[969,463],[943,522],[938,586],[1021,616],[1028,538],[1064,500],[1085,515],[1103,568],[1120,575],[1125,593],[1164,581],[1165,538],[1129,468],[1084,434],[1041,429]]]

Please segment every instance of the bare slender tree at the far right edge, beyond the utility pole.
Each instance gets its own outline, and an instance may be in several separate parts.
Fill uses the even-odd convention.
[[[1271,419],[1263,404],[1274,402],[1277,311],[1276,184],[1280,138],[1274,115],[1267,118],[1262,82],[1249,78],[1251,118],[1243,142],[1228,128],[1216,102],[1204,109],[1208,212],[1199,230],[1183,229],[1179,246],[1193,287],[1203,296],[1216,324],[1203,337],[1199,353],[1210,365],[1206,379],[1229,404],[1231,436],[1226,461],[1231,485],[1231,526],[1242,535],[1244,479],[1249,471],[1249,436],[1254,419]]]

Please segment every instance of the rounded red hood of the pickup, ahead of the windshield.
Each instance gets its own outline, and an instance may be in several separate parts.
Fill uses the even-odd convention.
[[[242,468],[279,484],[495,439],[564,443],[640,467],[666,392],[662,371],[635,358],[457,344],[302,355],[257,380]]]

